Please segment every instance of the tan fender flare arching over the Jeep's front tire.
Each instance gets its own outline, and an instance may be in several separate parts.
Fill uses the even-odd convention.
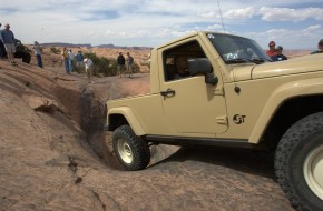
[[[310,94],[323,94],[323,78],[298,80],[280,86],[268,98],[251,133],[248,142],[261,142],[261,137],[265,132],[273,114],[284,101],[295,97]]]

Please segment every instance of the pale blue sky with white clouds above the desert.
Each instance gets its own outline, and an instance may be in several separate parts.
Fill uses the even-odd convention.
[[[193,31],[251,38],[267,49],[315,50],[323,0],[0,0],[0,22],[22,43],[158,47]]]

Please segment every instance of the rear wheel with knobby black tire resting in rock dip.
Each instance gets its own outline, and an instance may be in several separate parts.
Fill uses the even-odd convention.
[[[148,143],[137,137],[129,125],[121,125],[114,131],[114,151],[127,171],[145,169],[150,162]]]

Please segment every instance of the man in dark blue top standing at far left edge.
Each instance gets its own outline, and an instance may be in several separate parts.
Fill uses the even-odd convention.
[[[16,52],[14,34],[10,30],[9,23],[6,23],[4,29],[1,30],[1,41],[4,44],[9,62],[13,66],[17,66],[17,63],[14,61],[14,52]]]

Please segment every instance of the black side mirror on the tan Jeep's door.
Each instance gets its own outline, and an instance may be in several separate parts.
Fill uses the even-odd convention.
[[[206,58],[196,58],[188,60],[188,71],[190,76],[204,74],[205,82],[216,86],[218,78],[213,74],[211,62]]]

